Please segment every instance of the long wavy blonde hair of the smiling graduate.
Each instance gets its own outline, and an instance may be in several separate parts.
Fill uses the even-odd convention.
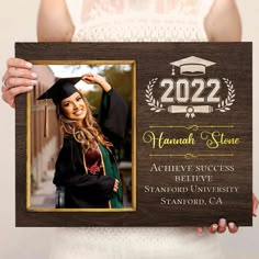
[[[79,91],[78,91],[79,92]],[[100,126],[98,125],[95,119],[92,115],[92,106],[89,104],[87,99],[79,92],[82,100],[86,103],[87,114],[83,120],[82,125],[74,120],[66,117],[63,113],[60,103],[56,106],[56,115],[59,124],[59,128],[65,136],[74,136],[74,138],[81,143],[82,149],[87,151],[88,149],[94,149],[94,143],[100,143],[108,149],[112,147],[112,144],[106,140],[105,136],[102,134]]]

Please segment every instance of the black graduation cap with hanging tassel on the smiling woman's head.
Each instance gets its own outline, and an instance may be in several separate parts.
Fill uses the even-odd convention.
[[[58,79],[47,91],[45,91],[37,100],[46,100],[45,102],[45,116],[44,116],[44,137],[48,137],[48,103],[47,100],[52,99],[55,105],[58,105],[61,100],[70,97],[77,92],[75,85],[79,82],[82,77],[61,78]]]

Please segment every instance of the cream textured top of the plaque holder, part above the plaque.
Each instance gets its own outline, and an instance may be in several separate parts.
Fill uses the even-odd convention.
[[[204,42],[213,0],[82,0],[74,42]]]

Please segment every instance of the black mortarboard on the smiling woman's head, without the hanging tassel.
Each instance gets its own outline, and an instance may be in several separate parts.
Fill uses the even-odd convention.
[[[81,79],[81,77],[61,78],[37,98],[37,100],[53,99],[53,102],[57,105],[61,100],[78,91],[75,85]]]

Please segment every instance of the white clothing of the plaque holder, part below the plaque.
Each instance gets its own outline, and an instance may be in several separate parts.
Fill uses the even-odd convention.
[[[172,215],[173,216],[173,215]],[[216,235],[189,227],[57,228],[50,259],[222,259]]]

